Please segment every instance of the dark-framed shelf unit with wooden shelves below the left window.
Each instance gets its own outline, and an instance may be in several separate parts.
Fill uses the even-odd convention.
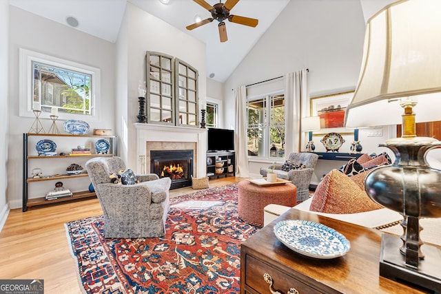
[[[29,137],[41,136],[41,137],[64,137],[64,138],[78,138],[79,142],[81,139],[85,138],[105,138],[110,142],[110,151],[109,154],[79,154],[79,155],[57,155],[57,156],[37,156],[37,155],[29,155]],[[61,174],[60,176],[44,176],[43,178],[30,178],[29,174],[29,161],[30,160],[67,160],[67,158],[94,158],[94,157],[103,157],[103,156],[116,156],[117,155],[117,138],[116,136],[96,136],[96,135],[70,135],[70,134],[23,134],[23,212],[28,210],[28,207],[37,207],[40,205],[48,205],[59,202],[66,202],[72,200],[79,200],[82,198],[90,198],[96,196],[94,192],[90,192],[88,190],[85,191],[75,191],[72,192],[71,197],[65,198],[57,198],[54,200],[45,200],[45,196],[31,198],[28,199],[28,189],[29,185],[36,182],[48,182],[48,181],[58,181],[63,179],[79,179],[88,177],[88,174],[83,171],[82,174],[69,175],[69,174]]]

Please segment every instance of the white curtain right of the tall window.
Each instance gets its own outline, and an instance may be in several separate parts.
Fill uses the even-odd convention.
[[[286,144],[285,157],[292,152],[299,152],[301,144],[304,143],[300,132],[300,118],[307,114],[307,70],[290,72],[283,76],[285,82],[285,111],[287,112],[286,122]],[[308,114],[309,116],[309,114]]]

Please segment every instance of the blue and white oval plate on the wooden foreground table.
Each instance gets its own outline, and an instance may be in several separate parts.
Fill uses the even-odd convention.
[[[282,220],[274,226],[274,234],[289,249],[310,258],[338,258],[351,248],[344,235],[310,220]]]

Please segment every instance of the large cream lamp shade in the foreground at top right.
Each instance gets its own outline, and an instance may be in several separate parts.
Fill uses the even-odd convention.
[[[369,19],[346,127],[400,124],[404,97],[418,100],[417,123],[441,120],[440,11],[440,0],[402,0]]]

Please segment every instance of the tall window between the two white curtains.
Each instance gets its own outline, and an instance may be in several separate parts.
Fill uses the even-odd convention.
[[[279,93],[249,99],[247,118],[248,155],[285,157],[285,96]]]

